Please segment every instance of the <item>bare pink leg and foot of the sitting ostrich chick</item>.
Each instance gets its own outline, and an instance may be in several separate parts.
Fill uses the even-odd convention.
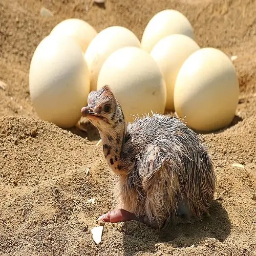
[[[137,217],[135,214],[132,214],[132,212],[124,209],[115,209],[107,212],[106,214],[103,214],[98,218],[98,220],[112,223],[132,220],[143,222],[143,217]]]

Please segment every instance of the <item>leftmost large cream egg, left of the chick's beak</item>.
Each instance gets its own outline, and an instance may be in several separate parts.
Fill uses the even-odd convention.
[[[30,63],[29,90],[39,118],[65,129],[77,123],[90,78],[83,52],[72,38],[49,35],[40,42]]]

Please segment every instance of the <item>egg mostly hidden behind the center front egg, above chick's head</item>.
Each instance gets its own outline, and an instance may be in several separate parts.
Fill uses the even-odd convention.
[[[92,40],[84,54],[90,71],[91,91],[97,88],[98,75],[106,58],[126,46],[140,48],[140,41],[132,31],[120,26],[106,28]]]

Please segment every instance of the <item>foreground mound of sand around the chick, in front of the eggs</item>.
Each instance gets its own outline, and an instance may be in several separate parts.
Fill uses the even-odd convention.
[[[97,217],[113,207],[113,177],[101,147],[40,120],[1,116],[0,123],[0,249],[6,253],[78,255],[86,250],[88,255],[120,255],[160,250],[187,255],[242,252],[255,245],[251,240],[256,232],[255,155],[250,156],[256,149],[256,131],[251,131],[254,117],[223,133],[203,136],[211,145],[218,177],[210,218],[160,234],[136,222],[108,223],[99,246],[92,240],[91,228],[98,225]],[[232,162],[245,167],[232,167]],[[96,198],[94,204],[88,202],[91,198]]]

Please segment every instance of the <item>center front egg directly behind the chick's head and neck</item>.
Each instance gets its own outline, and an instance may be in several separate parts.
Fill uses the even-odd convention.
[[[125,47],[104,62],[97,89],[108,84],[122,106],[126,121],[151,111],[164,113],[166,88],[156,61],[142,49]]]

